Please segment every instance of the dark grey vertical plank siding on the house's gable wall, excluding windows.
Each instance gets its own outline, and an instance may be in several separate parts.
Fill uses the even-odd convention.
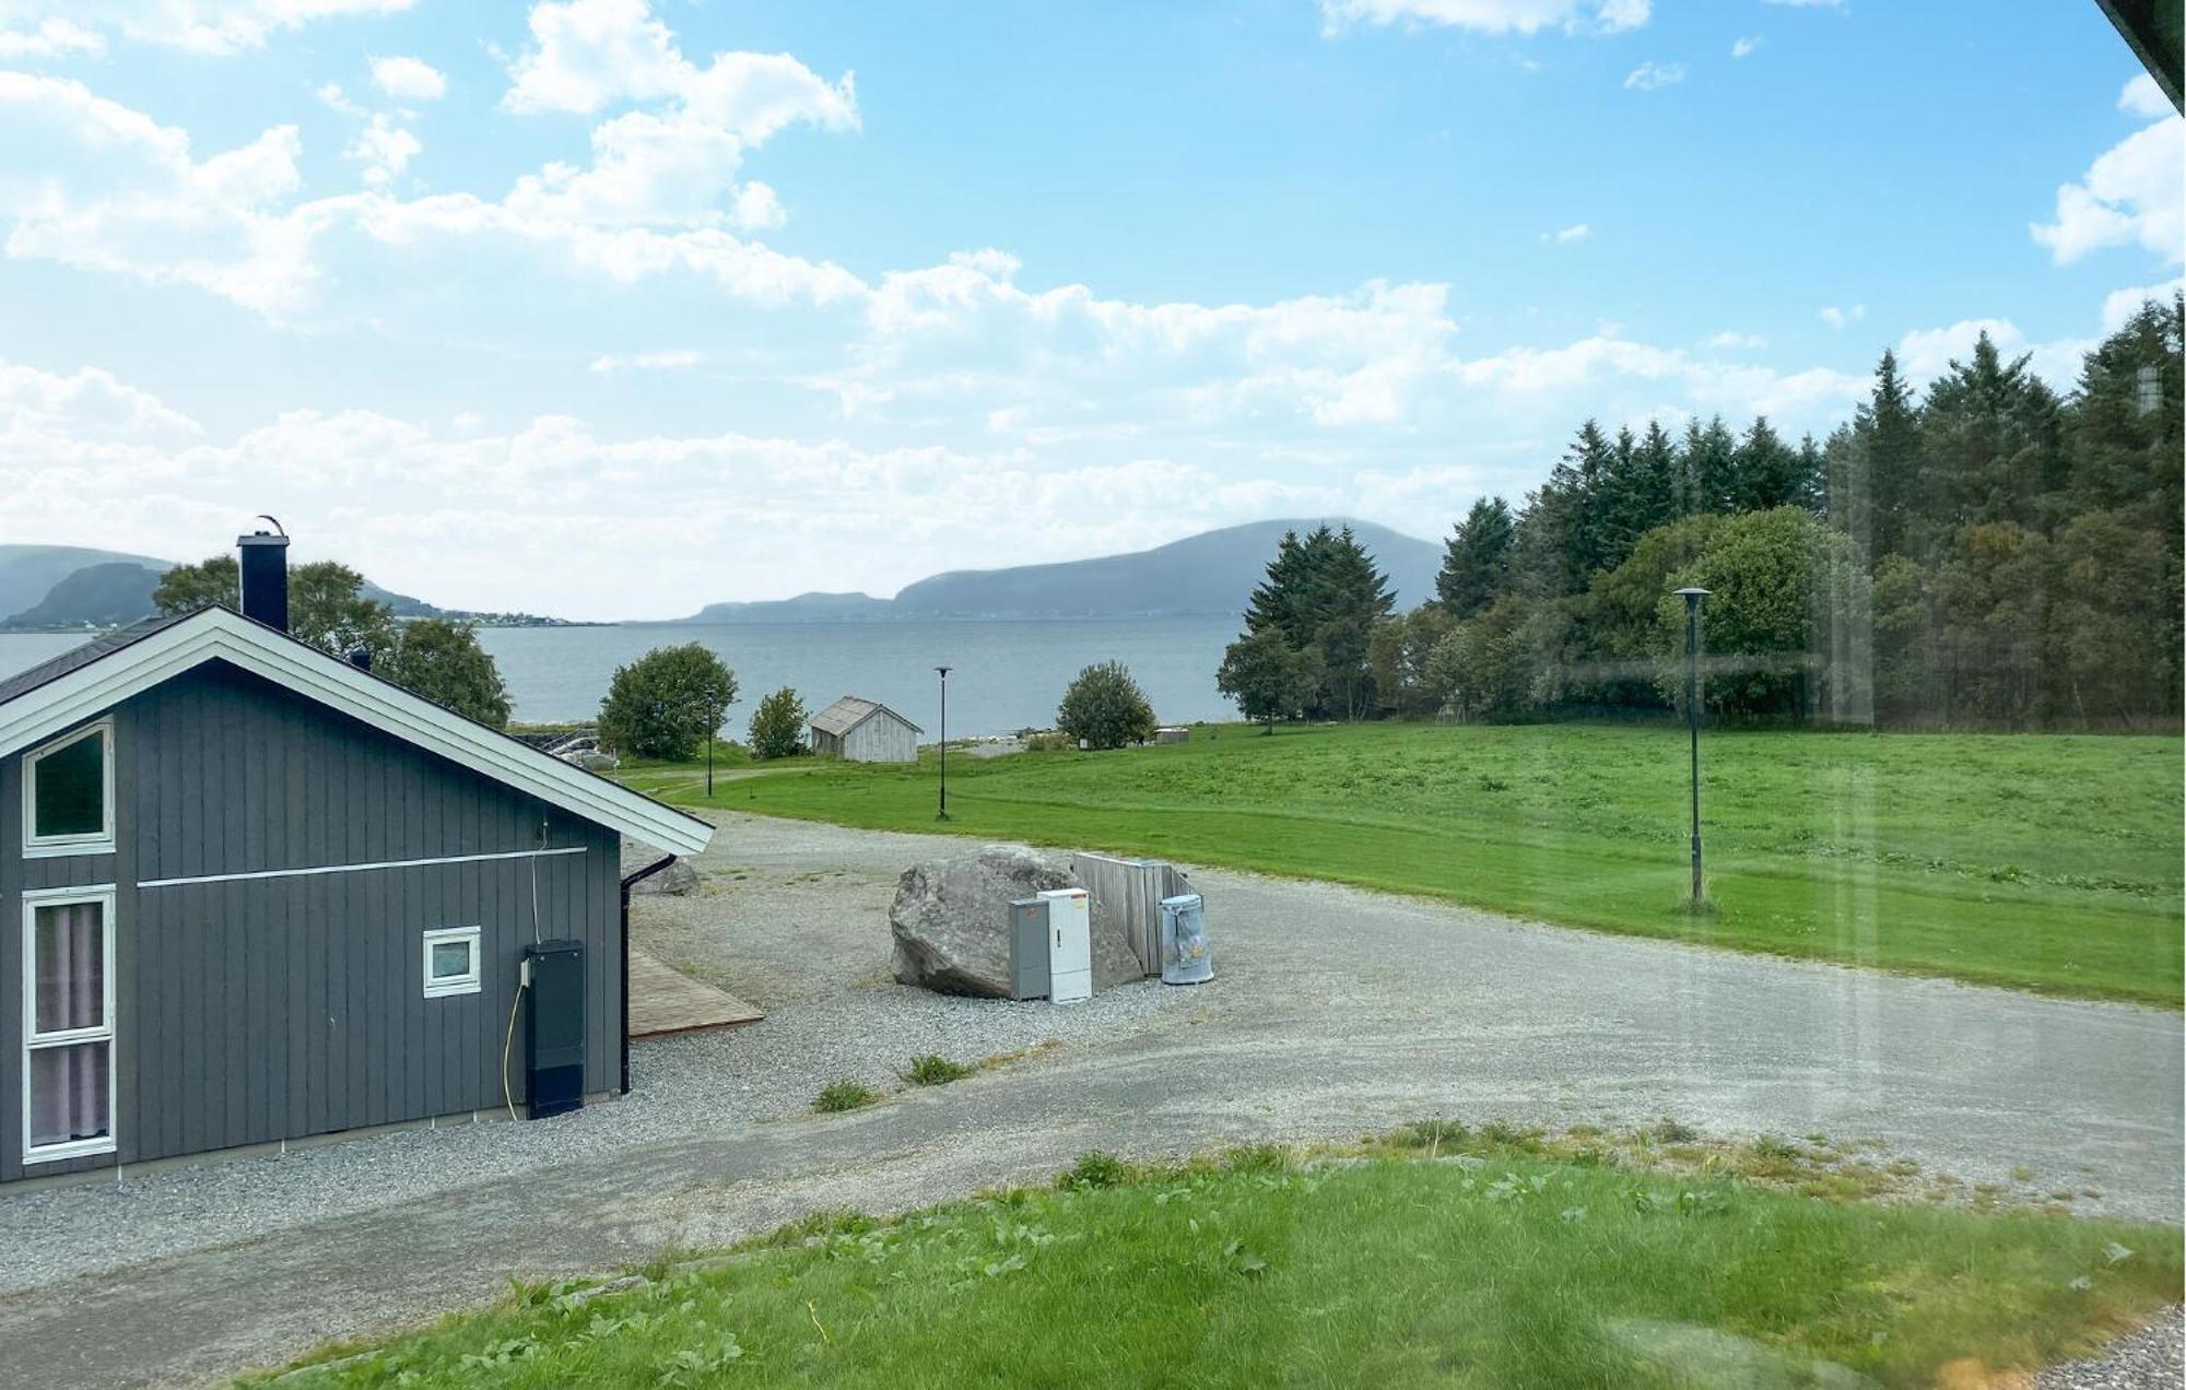
[[[22,767],[0,758],[0,1182],[26,1176],[26,887],[116,885],[120,1163],[501,1106],[503,1027],[533,935],[586,944],[586,1091],[619,1084],[614,831],[219,662],[111,712],[114,855],[24,859]],[[546,848],[584,852],[138,887],[533,850],[542,822]],[[481,992],[424,997],[435,927],[481,929]],[[509,1088],[520,1106],[520,1021]]]

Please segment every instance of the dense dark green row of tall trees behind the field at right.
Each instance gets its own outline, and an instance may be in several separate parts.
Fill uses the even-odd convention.
[[[1395,612],[1349,531],[1285,535],[1218,686],[1248,719],[1631,715],[2175,726],[2182,319],[2142,304],[2068,396],[1983,332],[1915,391],[1891,352],[1821,441],[1766,417],[1578,428],[1519,507],[1473,503]]]

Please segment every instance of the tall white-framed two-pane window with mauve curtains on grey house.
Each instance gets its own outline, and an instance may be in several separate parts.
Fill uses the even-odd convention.
[[[114,1152],[114,890],[22,896],[22,1161]]]

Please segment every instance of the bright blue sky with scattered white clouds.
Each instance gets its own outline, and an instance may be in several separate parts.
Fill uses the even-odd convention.
[[[2186,179],[2092,0],[0,0],[0,540],[571,616],[2070,385]]]

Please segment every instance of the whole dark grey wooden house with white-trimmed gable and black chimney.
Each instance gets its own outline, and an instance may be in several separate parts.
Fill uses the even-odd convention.
[[[271,566],[0,680],[0,1185],[627,1091],[621,841],[710,826],[297,643]]]

